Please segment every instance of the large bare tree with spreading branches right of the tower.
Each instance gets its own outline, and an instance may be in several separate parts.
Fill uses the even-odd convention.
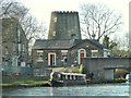
[[[81,16],[83,36],[97,41],[105,35],[116,33],[122,24],[121,15],[114,14],[103,4],[82,4]]]

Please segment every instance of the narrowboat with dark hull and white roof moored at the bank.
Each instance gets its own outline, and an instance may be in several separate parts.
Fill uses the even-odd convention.
[[[52,72],[50,74],[50,86],[85,85],[86,74]]]

